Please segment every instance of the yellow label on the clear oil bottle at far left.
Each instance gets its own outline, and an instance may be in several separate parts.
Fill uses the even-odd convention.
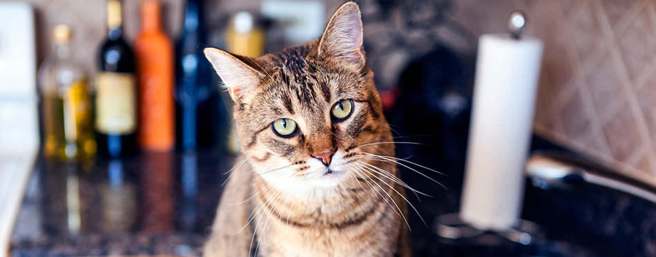
[[[86,79],[71,83],[64,93],[64,135],[66,141],[77,141],[78,134],[88,134],[91,125],[89,93]]]

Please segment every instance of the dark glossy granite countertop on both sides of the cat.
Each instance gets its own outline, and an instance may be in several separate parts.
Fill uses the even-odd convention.
[[[559,149],[534,138],[532,149]],[[656,256],[656,205],[593,185],[540,189],[527,181],[522,218],[546,238],[521,245],[494,234],[444,240],[434,218],[459,209],[462,163],[411,160],[447,174],[402,169],[404,181],[432,197],[409,198],[415,256]],[[52,163],[40,158],[23,201],[12,256],[200,255],[234,157],[218,150],[144,152],[121,160]]]

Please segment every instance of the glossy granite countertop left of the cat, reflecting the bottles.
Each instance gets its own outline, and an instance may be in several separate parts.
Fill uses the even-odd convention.
[[[11,254],[200,254],[232,162],[217,151],[39,158]]]

